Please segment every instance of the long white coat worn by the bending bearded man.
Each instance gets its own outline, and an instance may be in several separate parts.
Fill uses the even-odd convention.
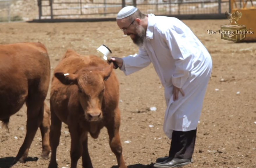
[[[129,75],[150,63],[164,87],[164,133],[171,139],[173,130],[196,129],[212,69],[207,49],[179,19],[148,14],[143,47],[138,54],[123,58],[120,70]],[[182,88],[185,96],[179,93],[173,101],[173,85]]]

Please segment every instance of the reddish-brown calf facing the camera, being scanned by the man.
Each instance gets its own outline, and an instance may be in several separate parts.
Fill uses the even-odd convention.
[[[82,56],[67,50],[54,70],[51,83],[51,161],[57,168],[56,150],[61,136],[61,123],[68,125],[71,136],[71,168],[77,167],[82,156],[83,167],[92,168],[88,153],[88,132],[99,136],[105,126],[109,145],[120,168],[127,168],[119,137],[119,84],[113,64],[108,65],[94,55]]]

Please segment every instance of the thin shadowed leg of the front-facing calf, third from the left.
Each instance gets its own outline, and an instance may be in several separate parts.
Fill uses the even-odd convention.
[[[88,152],[88,133],[85,132],[83,138],[83,154],[82,154],[83,168],[93,168],[92,161]]]

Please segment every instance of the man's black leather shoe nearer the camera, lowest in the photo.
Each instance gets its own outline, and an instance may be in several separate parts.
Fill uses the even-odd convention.
[[[191,163],[191,160],[174,158],[171,161],[166,160],[160,163],[156,163],[154,164],[154,167],[157,167],[157,168],[182,167]]]

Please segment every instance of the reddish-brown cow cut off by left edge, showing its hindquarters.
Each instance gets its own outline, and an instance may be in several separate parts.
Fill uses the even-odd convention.
[[[0,45],[0,72],[0,120],[3,125],[8,128],[10,116],[24,103],[27,106],[26,137],[15,163],[26,161],[38,127],[43,139],[41,156],[48,158],[50,116],[44,101],[49,89],[50,60],[45,46],[41,43]]]

